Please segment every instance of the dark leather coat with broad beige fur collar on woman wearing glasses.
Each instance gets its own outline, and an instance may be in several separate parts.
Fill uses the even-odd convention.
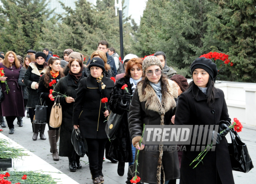
[[[142,94],[142,84],[142,82],[137,84],[129,109],[128,122],[133,146],[141,139],[144,124],[172,124],[171,117],[175,114],[176,98],[178,97],[177,86],[171,80],[168,80],[168,91],[162,94],[161,102],[149,83],[145,87],[145,94]],[[163,151],[160,148],[159,151],[140,150],[138,163],[140,164],[137,170],[141,182],[160,184],[161,178],[167,181],[180,177],[176,150]],[[135,165],[133,165],[133,171],[135,171]]]

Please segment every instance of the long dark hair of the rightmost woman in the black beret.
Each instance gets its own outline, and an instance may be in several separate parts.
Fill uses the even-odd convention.
[[[189,83],[189,89],[186,92],[192,92],[194,99],[197,99],[199,90],[200,90],[199,87],[195,85],[194,81],[191,81]],[[208,81],[208,86],[206,91],[208,106],[214,103],[215,94],[216,94],[216,88],[214,87],[213,79],[209,76],[209,81]]]

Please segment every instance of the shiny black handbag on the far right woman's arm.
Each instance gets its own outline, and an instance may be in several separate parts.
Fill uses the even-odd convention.
[[[232,170],[245,173],[249,172],[251,169],[253,169],[253,162],[247,150],[246,144],[241,141],[237,132],[233,128],[230,129],[230,136],[232,143],[228,143],[228,150]]]

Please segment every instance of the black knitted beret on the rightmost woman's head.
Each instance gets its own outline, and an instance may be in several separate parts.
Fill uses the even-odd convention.
[[[209,73],[211,78],[215,78],[218,75],[218,69],[215,63],[207,58],[196,58],[195,61],[191,64],[191,75],[193,75],[193,72],[197,68],[202,68],[206,72]]]

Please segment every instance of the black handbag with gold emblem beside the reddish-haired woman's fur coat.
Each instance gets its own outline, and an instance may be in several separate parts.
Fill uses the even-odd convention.
[[[109,140],[114,140],[116,138],[115,134],[123,118],[123,115],[124,113],[120,115],[110,111],[109,117],[107,118],[107,124],[105,127],[105,131],[107,133],[107,137],[109,138]]]

